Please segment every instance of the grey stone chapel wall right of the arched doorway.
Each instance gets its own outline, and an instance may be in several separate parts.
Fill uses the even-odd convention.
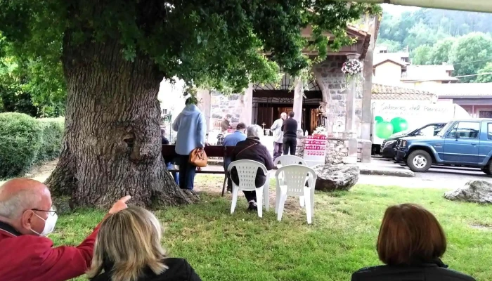
[[[318,79],[318,84],[323,84],[326,94],[328,133],[338,136],[345,130],[345,115],[347,108],[345,100],[347,97],[347,78],[342,72],[342,65],[347,61],[344,55],[330,55],[322,63],[313,67],[314,74]],[[363,91],[361,83],[356,92],[356,118],[355,131],[357,136],[361,136],[362,120],[362,97]]]

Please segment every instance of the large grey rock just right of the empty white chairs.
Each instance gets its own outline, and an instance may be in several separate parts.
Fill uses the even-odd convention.
[[[356,164],[317,165],[313,169],[318,176],[316,190],[349,190],[358,181],[359,169]]]

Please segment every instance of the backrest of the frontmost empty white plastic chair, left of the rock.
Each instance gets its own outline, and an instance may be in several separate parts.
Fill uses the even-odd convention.
[[[279,176],[282,174],[283,176]],[[314,188],[316,183],[316,172],[304,165],[282,166],[275,173],[277,185],[287,185],[287,195],[302,196],[304,195],[304,186],[306,181],[309,188]]]

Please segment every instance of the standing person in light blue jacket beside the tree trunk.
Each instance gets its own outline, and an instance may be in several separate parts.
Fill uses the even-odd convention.
[[[179,187],[193,190],[196,166],[188,162],[190,152],[195,148],[205,148],[207,126],[205,117],[197,107],[196,98],[186,100],[186,106],[176,117],[172,129],[178,132],[176,138],[176,154],[179,164]]]

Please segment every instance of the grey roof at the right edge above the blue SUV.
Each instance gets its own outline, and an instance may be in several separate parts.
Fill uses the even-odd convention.
[[[492,83],[436,84],[433,86],[429,85],[426,90],[436,93],[439,98],[492,97]]]

